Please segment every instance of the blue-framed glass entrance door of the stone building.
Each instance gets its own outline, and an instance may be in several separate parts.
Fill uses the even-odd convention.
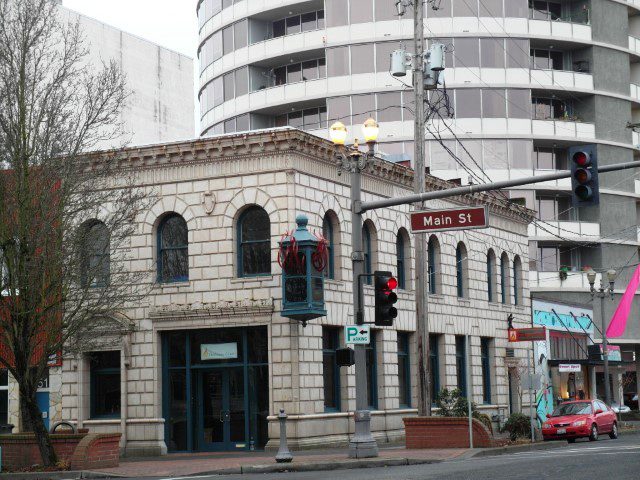
[[[242,368],[204,370],[199,375],[199,450],[226,451],[246,446]]]

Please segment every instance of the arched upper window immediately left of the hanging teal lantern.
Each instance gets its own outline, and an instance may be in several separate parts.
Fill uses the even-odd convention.
[[[271,274],[271,222],[261,207],[247,208],[238,219],[238,276]]]

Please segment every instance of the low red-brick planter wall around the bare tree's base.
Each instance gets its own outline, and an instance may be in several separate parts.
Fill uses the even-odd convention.
[[[51,435],[58,460],[72,469],[117,467],[120,461],[120,434],[56,433]],[[35,435],[0,435],[2,469],[19,470],[41,465],[42,458]]]

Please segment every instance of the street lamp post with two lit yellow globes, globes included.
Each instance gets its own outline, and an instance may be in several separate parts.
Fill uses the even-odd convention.
[[[364,252],[362,250],[362,171],[367,168],[374,156],[374,146],[378,139],[379,127],[372,118],[362,127],[367,152],[358,149],[358,140],[352,148],[345,147],[347,129],[341,122],[334,123],[329,135],[340,149],[337,155],[338,174],[342,171],[351,174],[351,261],[353,264],[353,315],[358,325],[364,324],[362,305],[363,285],[360,281],[364,272]],[[378,456],[378,444],[371,435],[371,412],[367,398],[367,351],[365,345],[355,345],[356,370],[356,411],[354,413],[355,433],[349,442],[349,457],[370,458]]]

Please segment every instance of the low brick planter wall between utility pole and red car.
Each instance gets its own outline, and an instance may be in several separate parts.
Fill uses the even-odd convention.
[[[466,417],[403,418],[407,448],[469,448],[469,419]],[[491,432],[473,419],[473,446],[495,446]]]

